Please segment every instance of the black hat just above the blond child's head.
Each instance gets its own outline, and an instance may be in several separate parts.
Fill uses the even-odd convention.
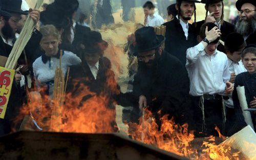
[[[40,21],[43,25],[53,25],[63,29],[70,25],[69,19],[56,10],[53,4],[48,5],[46,10],[40,13]]]

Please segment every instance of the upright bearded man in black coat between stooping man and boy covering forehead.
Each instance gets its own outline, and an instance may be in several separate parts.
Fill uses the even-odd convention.
[[[196,19],[195,3],[200,2],[196,0],[177,0],[178,15],[174,20],[163,24],[166,26],[165,51],[176,56],[184,66],[186,64],[186,50],[197,44],[197,35],[188,23],[194,13]]]

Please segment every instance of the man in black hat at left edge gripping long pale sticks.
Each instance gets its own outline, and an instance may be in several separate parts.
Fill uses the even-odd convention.
[[[2,12],[0,15],[0,66],[5,66],[5,63],[11,53],[13,44],[16,40],[15,33],[17,30],[17,25],[20,20],[21,14],[27,14],[27,12],[22,11],[21,0],[3,0],[2,1]],[[10,14],[7,14],[9,12]],[[39,11],[31,10],[30,16],[35,23],[39,20]],[[23,68],[20,70],[22,74],[28,74],[29,65],[35,58],[35,49],[39,45],[41,39],[41,34],[38,31],[34,31],[30,41],[25,47],[25,52],[27,55],[27,60],[25,55],[22,54],[18,59],[18,66],[22,65]],[[32,68],[32,67],[31,67]],[[10,96],[10,101],[7,106],[5,119],[0,120],[0,135],[8,134],[11,132],[12,120],[18,115],[19,108],[25,102],[25,90],[21,88],[19,81],[22,79],[21,74],[15,74],[15,81],[12,86],[12,92]],[[18,127],[18,126],[17,126]]]

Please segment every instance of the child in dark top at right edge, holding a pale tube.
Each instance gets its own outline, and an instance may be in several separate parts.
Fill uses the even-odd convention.
[[[245,97],[248,104],[248,108],[256,108],[256,45],[247,45],[242,53],[242,60],[247,72],[243,72],[237,75],[234,81],[234,91],[232,94],[234,110],[236,112],[236,120],[233,122],[232,130],[229,134],[238,132],[243,127],[247,126],[243,110],[240,106],[238,99],[237,87],[245,87]],[[256,130],[256,111],[251,111],[251,120],[254,126],[254,131]]]

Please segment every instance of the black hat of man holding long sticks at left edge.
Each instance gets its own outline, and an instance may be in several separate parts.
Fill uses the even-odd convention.
[[[2,10],[9,13],[28,14],[22,9],[22,0],[2,0]]]

